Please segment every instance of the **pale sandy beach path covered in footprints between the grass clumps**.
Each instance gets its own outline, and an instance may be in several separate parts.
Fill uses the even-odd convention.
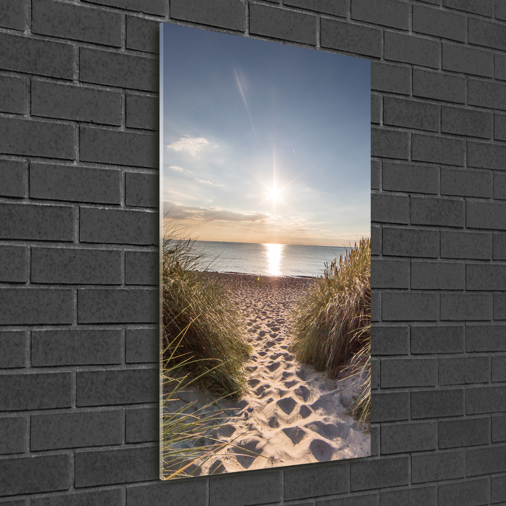
[[[224,427],[209,435],[230,444],[195,474],[290,466],[370,455],[370,434],[346,415],[362,381],[328,379],[288,351],[290,309],[312,279],[215,274],[233,291],[254,348],[248,395],[233,404]],[[189,398],[205,397],[189,392]],[[362,429],[362,430],[361,430]],[[208,441],[210,442],[210,440]]]

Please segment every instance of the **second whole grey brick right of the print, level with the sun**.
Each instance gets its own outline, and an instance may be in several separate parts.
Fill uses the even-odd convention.
[[[492,196],[492,174],[463,168],[441,168],[441,194],[462,197]]]

